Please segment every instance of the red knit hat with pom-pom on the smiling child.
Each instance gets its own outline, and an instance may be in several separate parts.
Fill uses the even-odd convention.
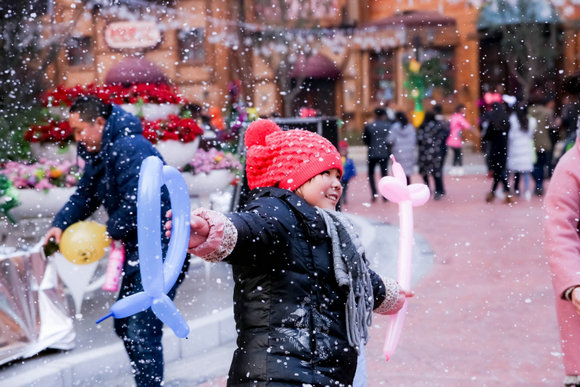
[[[340,154],[330,141],[307,130],[282,131],[275,122],[252,122],[245,134],[246,175],[250,189],[273,187],[294,191],[314,176],[336,168]]]

